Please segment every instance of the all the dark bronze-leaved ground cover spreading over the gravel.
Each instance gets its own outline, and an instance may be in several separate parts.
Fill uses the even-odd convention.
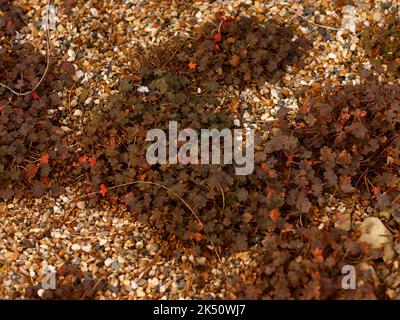
[[[258,245],[255,277],[224,279],[240,298],[385,297],[389,281],[378,283],[361,270],[363,285],[344,291],[340,272],[348,264],[379,263],[384,252],[332,221],[319,227],[317,218],[328,200],[351,197],[378,212],[389,210],[398,221],[399,85],[363,70],[357,85],[298,90],[298,111],[281,106],[262,127],[269,134],[256,132],[254,171],[247,176],[236,175],[234,164],[150,165],[149,130],[167,131],[170,121],[197,133],[237,128],[221,105],[225,88],[240,92],[279,83],[288,66],[301,69],[312,39],[277,21],[217,15],[190,40],[141,48],[133,55],[132,74],[119,79],[106,101],[85,110],[90,117],[81,134],[67,141],[60,106],[75,81],[75,66],[14,42],[23,12],[1,0],[0,9],[0,37],[9,40],[0,49],[0,199],[48,192],[56,197],[77,182],[80,194],[73,202],[87,200],[95,210],[117,207],[169,241],[163,254],[178,260],[183,248],[217,256],[224,272],[221,257]],[[367,55],[378,54],[379,63],[397,75],[395,17],[388,29],[366,29],[362,41]],[[26,298],[92,299],[107,290],[101,279],[65,263],[56,291],[32,285]]]

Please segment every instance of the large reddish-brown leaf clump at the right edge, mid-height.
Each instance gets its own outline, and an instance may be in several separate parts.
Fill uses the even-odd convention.
[[[399,192],[399,108],[399,86],[373,80],[305,94],[294,125],[283,118],[265,148],[291,202],[307,213],[331,193],[389,207]]]

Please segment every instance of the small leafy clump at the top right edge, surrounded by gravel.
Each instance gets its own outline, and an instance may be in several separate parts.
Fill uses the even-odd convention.
[[[400,76],[400,16],[392,12],[384,26],[373,25],[364,29],[361,43],[374,65],[387,65],[387,71]]]

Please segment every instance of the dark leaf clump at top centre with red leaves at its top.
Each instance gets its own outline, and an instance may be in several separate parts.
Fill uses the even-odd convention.
[[[255,17],[244,16],[220,17],[199,27],[190,42],[174,42],[179,45],[167,43],[153,48],[140,59],[145,65],[167,68],[198,83],[217,82],[239,88],[277,82],[285,67],[299,61],[310,48],[304,37],[294,40],[289,27],[273,20],[262,24]]]

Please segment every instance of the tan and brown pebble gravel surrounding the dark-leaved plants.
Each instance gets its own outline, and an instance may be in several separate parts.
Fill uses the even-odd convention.
[[[44,31],[37,29],[36,22],[41,21],[47,1],[17,2],[27,10],[30,21],[20,32],[21,41],[31,41],[44,49]],[[297,110],[293,93],[300,87],[360,82],[358,71],[370,68],[370,64],[359,47],[357,32],[373,21],[381,21],[389,5],[366,1],[356,6],[360,21],[354,33],[341,28],[342,14],[333,1],[308,1],[309,5],[304,6],[302,2],[249,0],[78,0],[70,13],[61,3],[56,1],[58,22],[51,30],[51,44],[54,54],[76,68],[73,90],[61,97],[63,108],[69,112],[62,130],[74,130],[76,134],[90,118],[92,108],[116,92],[119,79],[132,75],[134,61],[130,53],[137,44],[158,44],[173,35],[190,37],[199,23],[219,10],[256,15],[261,21],[286,21],[299,35],[314,39],[305,67],[288,67],[278,84],[266,83],[243,92],[226,88],[229,94],[243,97],[249,107],[242,117],[238,115],[236,126],[241,120],[254,125],[274,121],[279,106]],[[73,200],[80,193],[79,187],[71,187],[57,199],[46,196],[0,202],[1,298],[23,298],[27,287],[40,284],[43,261],[56,270],[66,261],[74,261],[83,272],[105,279],[108,289],[98,294],[99,299],[234,299],[237,288],[230,279],[246,281],[256,276],[256,258],[262,250],[259,245],[223,257],[226,278],[215,255],[185,253],[180,260],[164,256],[162,248],[171,243],[160,240],[151,226],[140,224],[119,207],[89,209],[85,201]],[[329,219],[324,217],[329,212],[316,219],[316,225],[327,226]],[[374,214],[369,207],[365,212],[356,204],[346,204],[345,218],[336,223],[348,231],[350,216],[357,225],[367,213]],[[381,225],[379,228],[384,230]]]

